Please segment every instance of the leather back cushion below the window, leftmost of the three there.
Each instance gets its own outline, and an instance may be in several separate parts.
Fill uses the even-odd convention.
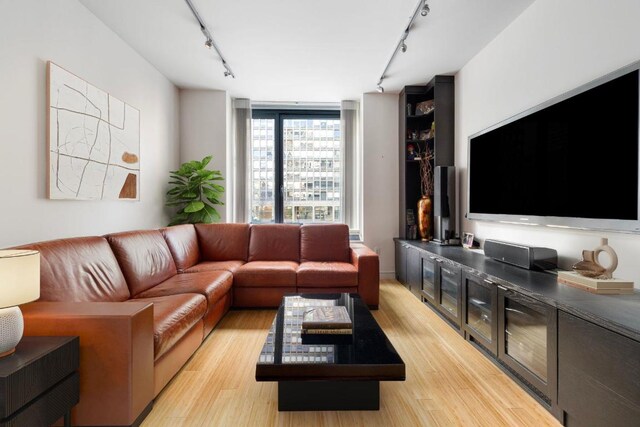
[[[196,224],[200,260],[247,260],[249,224]]]

